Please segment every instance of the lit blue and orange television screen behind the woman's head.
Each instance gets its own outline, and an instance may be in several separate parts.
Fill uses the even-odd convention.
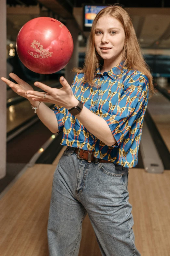
[[[93,20],[97,13],[107,6],[99,6],[99,5],[85,5],[84,6],[84,27],[90,28],[92,27]],[[85,29],[89,30],[89,29]]]

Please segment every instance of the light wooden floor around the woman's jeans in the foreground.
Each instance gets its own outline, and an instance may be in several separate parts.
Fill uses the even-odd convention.
[[[1,198],[1,256],[48,256],[52,178],[65,148],[52,165],[36,164],[28,168]],[[169,184],[170,171],[149,174],[143,169],[129,169],[135,245],[141,256],[170,255]],[[101,256],[88,215],[83,221],[79,256]]]

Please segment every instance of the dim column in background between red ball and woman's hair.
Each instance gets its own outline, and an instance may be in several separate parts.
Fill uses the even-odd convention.
[[[71,69],[73,67],[78,67],[78,25],[76,24],[74,19],[67,19],[66,27],[70,31],[72,38],[73,38],[73,43],[74,43],[74,50],[72,57],[69,61],[69,63],[65,66],[65,79],[67,82],[71,85],[73,82],[73,78],[75,74],[71,72]]]

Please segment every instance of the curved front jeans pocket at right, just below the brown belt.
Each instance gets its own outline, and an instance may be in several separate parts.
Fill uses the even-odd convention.
[[[110,176],[115,176],[115,177],[122,177],[124,172],[123,172],[123,166],[114,164],[114,163],[100,163],[99,162],[99,167],[104,172],[105,174],[108,174]]]

